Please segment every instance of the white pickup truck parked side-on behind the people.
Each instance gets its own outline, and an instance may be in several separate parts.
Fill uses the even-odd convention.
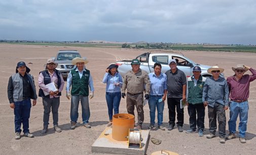
[[[179,54],[172,54],[172,53],[143,53],[136,57],[140,61],[140,69],[144,70],[147,73],[154,72],[154,64],[156,62],[161,63],[162,65],[162,72],[165,73],[167,70],[170,69],[168,62],[170,59],[175,59],[177,61],[177,68],[182,70],[187,78],[193,75],[193,67],[198,65],[201,67],[202,75],[206,78],[209,78],[211,74],[207,72],[207,69],[211,66],[197,64],[196,62],[190,60],[189,58],[179,55]],[[123,60],[116,62],[118,67],[119,73],[124,77],[131,67],[131,60]],[[223,75],[222,75],[223,76]]]

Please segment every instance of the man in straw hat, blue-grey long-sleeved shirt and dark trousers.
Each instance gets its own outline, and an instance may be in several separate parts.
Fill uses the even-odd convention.
[[[225,143],[226,135],[226,112],[229,107],[229,88],[227,81],[220,76],[223,68],[212,66],[207,70],[212,76],[205,81],[203,87],[203,103],[208,105],[209,131],[210,135],[206,138],[215,137],[218,118],[218,134],[220,143]]]

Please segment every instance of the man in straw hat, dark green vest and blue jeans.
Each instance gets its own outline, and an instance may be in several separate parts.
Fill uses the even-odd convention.
[[[71,129],[76,128],[78,121],[78,105],[81,101],[82,105],[82,119],[83,124],[86,128],[91,128],[89,125],[90,118],[90,107],[89,98],[92,99],[94,95],[93,81],[90,74],[90,70],[85,69],[85,64],[89,61],[86,58],[74,58],[72,64],[77,65],[75,69],[71,69],[67,76],[67,86],[66,86],[66,97],[70,98],[69,88],[71,87],[71,109],[70,109],[70,119],[71,119]],[[89,93],[89,87],[91,92]],[[88,98],[89,96],[89,98]]]

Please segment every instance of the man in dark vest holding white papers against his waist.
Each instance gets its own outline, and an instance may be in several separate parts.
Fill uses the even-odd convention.
[[[43,118],[43,130],[42,134],[46,134],[48,131],[49,117],[52,109],[53,126],[56,132],[61,132],[58,127],[58,109],[60,104],[61,91],[64,87],[64,80],[61,73],[55,69],[58,64],[55,60],[50,58],[47,60],[45,70],[39,73],[38,85],[39,85],[39,96],[43,98],[44,105],[44,118]],[[57,91],[49,89],[46,85],[54,83],[57,86]]]

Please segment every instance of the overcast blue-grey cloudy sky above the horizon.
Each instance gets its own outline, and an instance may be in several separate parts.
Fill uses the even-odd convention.
[[[1,0],[0,39],[256,45],[256,1]]]

